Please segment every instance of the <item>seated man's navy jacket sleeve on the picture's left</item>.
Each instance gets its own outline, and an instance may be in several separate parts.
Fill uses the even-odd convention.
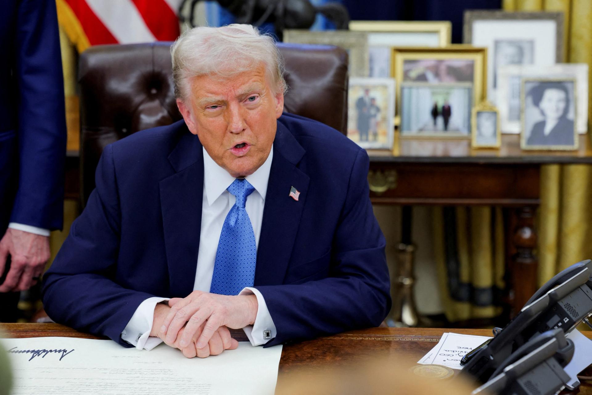
[[[96,189],[44,276],[43,305],[58,323],[130,346],[121,340],[121,331],[140,303],[154,295],[126,289],[111,280],[121,232],[111,146],[105,147],[95,178]]]

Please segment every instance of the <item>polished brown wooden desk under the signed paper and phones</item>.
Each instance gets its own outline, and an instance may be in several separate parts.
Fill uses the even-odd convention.
[[[284,345],[279,361],[278,388],[292,375],[303,371],[317,371],[336,365],[355,365],[358,361],[380,356],[386,358],[393,370],[407,368],[406,362],[417,361],[440,340],[444,332],[491,336],[489,329],[432,329],[432,328],[371,328],[353,330],[339,335]],[[245,341],[242,332],[239,340]],[[582,332],[592,338],[592,332]],[[65,336],[101,339],[88,333],[77,332],[58,324],[0,323],[0,337],[34,338]],[[592,383],[582,383],[574,394],[591,394]]]

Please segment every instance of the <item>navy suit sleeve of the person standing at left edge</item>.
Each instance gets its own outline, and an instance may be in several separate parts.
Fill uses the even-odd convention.
[[[19,3],[14,99],[20,170],[10,220],[62,229],[66,120],[56,2]]]

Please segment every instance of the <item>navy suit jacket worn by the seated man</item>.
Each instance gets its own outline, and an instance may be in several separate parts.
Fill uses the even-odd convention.
[[[378,326],[387,315],[368,165],[338,131],[279,118],[254,284],[278,332],[268,346]],[[203,185],[202,145],[184,121],[105,147],[96,189],[45,275],[49,316],[129,346],[120,333],[144,299],[193,290]]]

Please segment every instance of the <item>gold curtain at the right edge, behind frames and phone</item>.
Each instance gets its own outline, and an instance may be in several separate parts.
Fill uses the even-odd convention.
[[[588,63],[592,72],[592,1],[503,0],[503,7],[506,11],[563,11],[564,59]],[[590,82],[588,74],[588,117],[592,108]],[[592,258],[592,166],[542,166],[538,219],[538,281],[542,285],[562,269]]]

